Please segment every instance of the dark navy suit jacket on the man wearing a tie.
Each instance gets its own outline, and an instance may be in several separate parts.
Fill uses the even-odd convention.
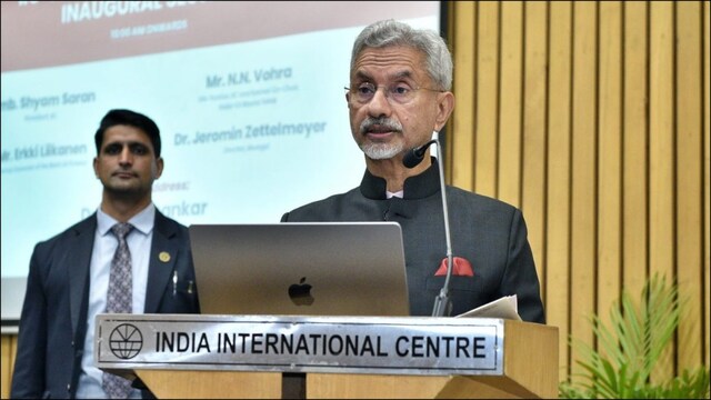
[[[73,398],[81,370],[89,264],[97,230],[96,213],[38,243],[30,261],[27,293],[12,376],[12,398]],[[168,252],[170,259],[159,259]],[[188,228],[156,210],[149,259],[146,313],[199,313]],[[174,272],[173,272],[174,271]],[[173,294],[172,277],[179,287]],[[144,397],[150,397],[143,391]]]

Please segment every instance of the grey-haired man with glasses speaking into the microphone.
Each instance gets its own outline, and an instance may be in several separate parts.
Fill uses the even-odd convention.
[[[452,58],[437,32],[393,20],[364,28],[346,88],[351,132],[365,156],[361,184],[281,221],[399,222],[412,316],[455,316],[515,294],[524,321],[545,323],[521,211],[459,188],[441,190],[429,144],[454,108],[451,82]]]

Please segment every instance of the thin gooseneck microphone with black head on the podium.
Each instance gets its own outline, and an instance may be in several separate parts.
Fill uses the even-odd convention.
[[[452,259],[452,240],[450,238],[449,228],[449,208],[447,206],[447,191],[444,184],[444,167],[442,166],[442,149],[438,139],[438,132],[433,132],[433,139],[429,142],[408,151],[402,158],[402,164],[407,168],[414,168],[424,159],[424,153],[431,144],[437,144],[437,166],[440,172],[440,192],[442,196],[442,213],[444,216],[444,239],[447,242],[447,277],[444,278],[444,284],[440,289],[440,293],[434,298],[434,308],[432,309],[432,317],[449,317],[452,311],[452,302],[449,298],[449,281],[452,277],[452,268],[454,262]]]

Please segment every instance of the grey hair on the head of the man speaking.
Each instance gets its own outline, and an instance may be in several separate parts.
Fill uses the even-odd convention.
[[[407,23],[383,20],[365,27],[353,43],[351,72],[356,59],[365,48],[405,46],[425,56],[427,72],[440,90],[452,89],[452,54],[444,39],[433,30],[414,29]]]

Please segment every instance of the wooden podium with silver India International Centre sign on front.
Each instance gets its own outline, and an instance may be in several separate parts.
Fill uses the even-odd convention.
[[[492,318],[100,314],[157,398],[557,398],[558,328]]]

